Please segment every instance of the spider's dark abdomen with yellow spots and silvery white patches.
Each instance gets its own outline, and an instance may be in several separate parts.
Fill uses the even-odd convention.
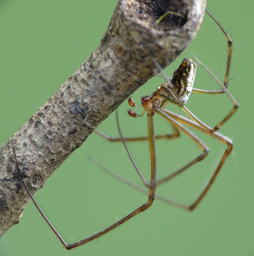
[[[195,61],[184,58],[179,68],[174,72],[172,84],[181,100],[186,103],[192,92],[197,65]]]

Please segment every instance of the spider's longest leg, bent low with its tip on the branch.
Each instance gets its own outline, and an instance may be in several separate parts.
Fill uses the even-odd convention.
[[[111,225],[110,227],[102,230],[101,232],[88,237],[84,240],[81,240],[77,243],[73,243],[73,244],[67,244],[62,238],[61,236],[58,234],[58,232],[56,231],[56,229],[53,227],[53,225],[50,223],[50,221],[46,218],[46,216],[43,214],[42,210],[40,209],[40,207],[38,206],[38,204],[36,203],[36,201],[34,200],[31,192],[29,191],[28,187],[26,186],[21,172],[19,171],[18,168],[18,161],[17,161],[17,157],[16,157],[16,153],[15,153],[15,149],[13,148],[13,154],[14,154],[14,158],[15,158],[15,163],[16,163],[16,169],[17,172],[20,176],[20,179],[27,191],[27,193],[29,194],[30,198],[32,199],[33,203],[35,204],[36,208],[39,210],[41,216],[43,217],[43,219],[46,221],[46,223],[49,225],[49,227],[51,228],[51,230],[55,233],[55,235],[57,236],[57,238],[60,240],[60,242],[62,243],[62,245],[67,249],[73,249],[75,247],[78,247],[82,244],[85,244],[89,241],[92,241],[106,233],[108,233],[109,231],[111,231],[112,229],[115,229],[116,227],[118,227],[119,225],[123,224],[124,222],[128,221],[129,219],[131,219],[132,217],[134,217],[135,215],[139,214],[140,212],[146,210],[147,208],[149,208],[154,200],[155,197],[155,190],[156,190],[156,150],[155,150],[155,136],[154,136],[154,124],[153,124],[153,116],[148,116],[148,137],[149,137],[149,146],[150,146],[150,158],[151,158],[151,182],[150,182],[150,189],[149,189],[149,197],[148,200],[145,204],[141,205],[140,207],[138,207],[136,210],[134,210],[133,212],[131,212],[130,214],[128,214],[126,217],[124,217],[123,219],[119,220],[118,222],[116,222],[115,224]]]

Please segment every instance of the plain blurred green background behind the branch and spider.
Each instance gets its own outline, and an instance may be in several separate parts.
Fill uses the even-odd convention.
[[[0,145],[41,106],[100,44],[116,0],[13,1],[0,0]],[[30,202],[21,222],[0,239],[0,255],[254,255],[253,204],[253,1],[209,0],[207,8],[233,33],[233,59],[229,90],[241,104],[220,130],[234,141],[215,184],[194,212],[156,200],[147,211],[99,238],[72,251],[61,244]],[[206,14],[195,40],[165,72],[171,76],[183,57],[194,53],[223,81],[226,38]],[[150,94],[162,83],[153,78],[133,96]],[[196,88],[219,86],[200,66]],[[193,94],[187,107],[214,126],[233,106],[226,95]],[[127,102],[119,108],[125,136],[147,134],[146,117],[127,115]],[[171,105],[168,109],[181,113]],[[137,110],[137,112],[141,110]],[[169,125],[155,116],[156,134]],[[112,114],[99,127],[117,135]],[[170,130],[171,131],[171,130]],[[190,202],[219,162],[225,146],[197,132],[211,148],[208,157],[186,173],[160,186],[157,192]],[[134,159],[149,179],[146,142],[128,144]],[[158,141],[158,177],[196,157],[198,147],[185,135]],[[92,134],[82,147],[50,177],[36,199],[60,234],[76,242],[111,225],[143,204],[147,195],[110,177],[90,162],[97,159],[135,184],[142,185],[121,143],[105,142]]]

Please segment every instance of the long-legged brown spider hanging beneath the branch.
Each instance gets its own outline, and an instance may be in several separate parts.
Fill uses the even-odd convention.
[[[119,127],[118,116],[117,116],[117,126],[118,126],[118,131],[119,131],[120,138],[110,138],[107,135],[105,135],[105,134],[103,134],[99,131],[96,131],[97,134],[101,135],[102,137],[104,137],[105,139],[107,139],[109,141],[122,141],[123,142],[123,144],[124,144],[124,146],[127,150],[127,153],[129,154],[129,157],[130,157],[131,161],[133,162],[134,167],[137,170],[140,178],[142,179],[145,186],[149,188],[149,196],[148,196],[148,200],[147,200],[146,203],[142,204],[140,207],[138,207],[136,210],[132,211],[126,217],[117,221],[115,224],[113,224],[110,227],[102,230],[101,232],[99,232],[99,233],[97,233],[97,234],[95,234],[91,237],[88,237],[84,240],[81,240],[79,242],[76,242],[76,243],[73,243],[73,244],[67,244],[63,240],[63,238],[58,234],[58,232],[53,227],[53,225],[50,223],[50,221],[43,214],[42,210],[40,209],[40,207],[38,206],[38,204],[34,200],[32,194],[30,193],[26,183],[24,182],[24,180],[22,178],[21,172],[19,171],[15,149],[13,148],[13,154],[14,154],[15,163],[16,163],[16,170],[17,170],[17,172],[20,176],[20,179],[21,179],[25,189],[27,190],[27,193],[29,194],[30,198],[32,199],[33,203],[35,204],[35,206],[39,210],[39,212],[42,215],[42,217],[44,218],[44,220],[47,222],[49,227],[52,229],[52,231],[55,233],[57,238],[60,240],[62,245],[67,250],[78,247],[82,244],[85,244],[85,243],[91,241],[91,240],[98,239],[100,236],[108,233],[110,230],[118,227],[119,225],[123,224],[124,222],[131,219],[135,215],[137,215],[140,212],[149,208],[152,205],[153,200],[155,198],[155,190],[156,190],[156,186],[158,184],[161,184],[165,181],[170,180],[171,178],[175,177],[179,173],[186,170],[188,167],[190,167],[190,166],[194,165],[195,163],[203,160],[207,156],[207,154],[209,152],[209,149],[206,146],[206,144],[204,142],[202,142],[194,133],[189,131],[183,124],[191,126],[194,129],[202,131],[206,134],[209,134],[211,137],[216,138],[217,140],[219,140],[222,143],[224,143],[225,145],[227,145],[227,149],[226,149],[225,153],[223,154],[223,156],[221,158],[221,161],[220,161],[219,165],[217,166],[216,170],[214,171],[212,177],[210,178],[208,184],[206,185],[204,190],[200,193],[198,198],[191,205],[185,206],[185,205],[176,203],[174,201],[168,200],[168,199],[163,198],[163,197],[157,197],[157,196],[156,197],[160,198],[164,201],[173,203],[173,204],[175,204],[179,207],[182,207],[184,209],[193,210],[198,205],[198,203],[202,200],[202,198],[205,196],[205,194],[207,193],[207,191],[211,187],[212,183],[214,182],[218,172],[220,171],[222,165],[224,164],[226,158],[229,156],[229,154],[230,154],[230,152],[232,151],[232,148],[233,148],[232,140],[227,138],[226,136],[216,132],[216,131],[235,113],[236,109],[239,107],[239,104],[233,98],[233,96],[229,93],[229,91],[227,90],[228,81],[229,81],[228,76],[229,76],[229,69],[230,69],[230,62],[231,62],[231,54],[232,54],[232,40],[231,40],[230,36],[227,34],[227,32],[224,30],[224,28],[220,25],[220,23],[213,17],[213,15],[208,10],[206,10],[206,11],[214,19],[214,21],[219,25],[219,27],[221,28],[221,30],[223,31],[223,33],[225,34],[225,36],[227,37],[227,40],[228,40],[228,60],[227,60],[227,68],[226,68],[224,84],[222,84],[196,57],[195,57],[195,59],[216,80],[216,82],[222,87],[222,89],[220,89],[220,90],[200,90],[200,89],[192,88],[193,83],[194,83],[194,79],[195,79],[195,73],[196,73],[196,63],[193,60],[190,60],[188,58],[184,58],[180,67],[174,72],[173,78],[169,79],[165,76],[165,74],[163,73],[163,71],[160,68],[157,61],[153,57],[151,57],[154,61],[154,64],[159,69],[159,71],[162,72],[162,77],[165,78],[166,82],[163,83],[160,87],[158,87],[156,89],[156,91],[151,96],[141,97],[141,103],[144,107],[143,113],[145,111],[147,111],[148,137],[124,138],[121,134],[121,130],[120,130],[120,127]],[[206,125],[200,119],[198,119],[198,117],[196,117],[192,112],[190,112],[185,107],[184,104],[188,100],[189,95],[192,91],[197,92],[197,93],[204,93],[204,94],[226,93],[226,94],[228,94],[230,99],[233,101],[234,107],[231,110],[231,112],[219,124],[217,124],[212,129],[210,126]],[[180,116],[180,115],[176,115],[175,113],[166,110],[164,107],[168,102],[172,102],[173,104],[177,104],[193,120],[188,120],[188,118],[185,118],[185,117]],[[135,103],[132,99],[129,99],[129,104],[131,106],[135,107]],[[133,116],[133,117],[138,116],[133,110],[130,110],[130,109],[128,110],[128,113],[129,113],[130,116]],[[155,134],[154,134],[154,121],[153,121],[153,116],[155,114],[159,114],[160,116],[165,118],[172,125],[173,131],[174,131],[173,134],[155,136]],[[191,139],[193,139],[194,142],[196,142],[198,144],[198,146],[203,151],[203,153],[201,155],[199,155],[198,157],[196,157],[193,161],[189,162],[187,165],[180,168],[179,170],[173,172],[172,174],[170,174],[170,175],[168,175],[168,176],[166,176],[166,177],[164,177],[160,180],[156,180],[155,139],[165,139],[165,138],[166,139],[174,139],[174,138],[179,137],[179,131],[185,133]],[[146,181],[146,179],[144,178],[142,173],[139,171],[139,169],[136,166],[135,162],[133,161],[133,159],[132,159],[132,157],[131,157],[131,155],[130,155],[127,147],[126,147],[126,143],[125,143],[125,141],[140,141],[140,140],[148,140],[149,141],[150,159],[151,159],[151,180],[150,180],[150,182]],[[101,167],[104,170],[107,170],[103,166],[101,166]],[[109,171],[109,170],[107,170],[107,171]],[[116,176],[116,177],[118,179],[121,179],[118,176]],[[124,181],[124,182],[126,182],[126,181]],[[136,188],[139,189],[138,187],[136,187]]]

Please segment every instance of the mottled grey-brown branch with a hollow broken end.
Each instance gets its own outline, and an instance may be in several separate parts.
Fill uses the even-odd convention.
[[[17,224],[30,198],[129,95],[187,47],[206,0],[119,0],[100,46],[0,148],[0,236]],[[182,16],[167,15],[167,11]]]

